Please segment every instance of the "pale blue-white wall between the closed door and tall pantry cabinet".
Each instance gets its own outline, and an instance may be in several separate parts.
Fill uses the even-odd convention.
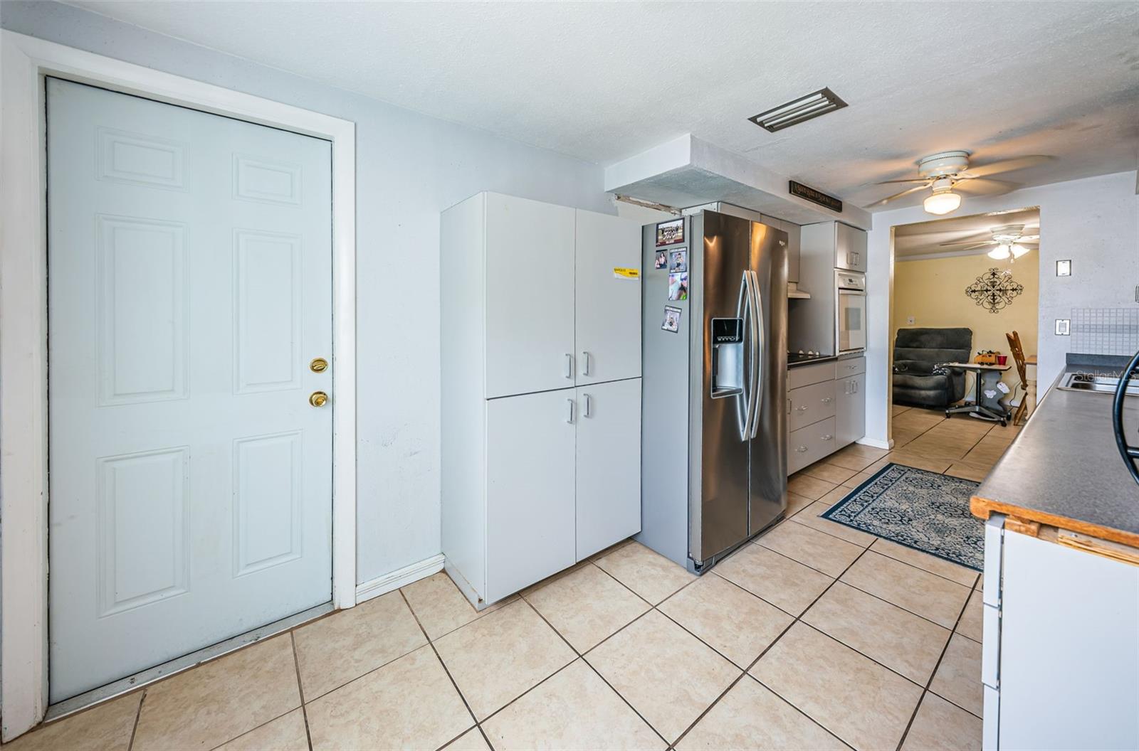
[[[436,555],[440,211],[493,190],[615,214],[601,167],[71,6],[6,1],[0,26],[357,123],[358,579]]]

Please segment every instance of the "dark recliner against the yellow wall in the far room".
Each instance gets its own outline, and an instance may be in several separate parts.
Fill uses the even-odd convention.
[[[894,340],[894,404],[947,407],[965,396],[965,373],[941,368],[967,363],[972,329],[899,329]]]

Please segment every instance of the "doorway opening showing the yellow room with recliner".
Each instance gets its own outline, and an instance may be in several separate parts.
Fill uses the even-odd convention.
[[[1040,209],[902,224],[892,236],[894,451],[980,480],[1035,403]]]

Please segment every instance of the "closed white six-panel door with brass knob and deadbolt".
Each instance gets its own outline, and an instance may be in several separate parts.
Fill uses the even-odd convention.
[[[48,80],[52,702],[329,600],[330,176]]]

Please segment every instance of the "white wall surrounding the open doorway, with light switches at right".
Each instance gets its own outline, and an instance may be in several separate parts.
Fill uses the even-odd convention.
[[[1136,306],[1139,286],[1139,196],[1134,172],[1025,188],[1005,196],[966,198],[956,214],[1040,207],[1039,374],[1042,393],[1063,370],[1071,337],[1057,337],[1056,319],[1073,307]],[[927,222],[920,206],[874,215],[867,273],[867,436],[885,440],[890,405],[891,228]],[[1072,259],[1072,275],[1057,277],[1056,261]],[[964,290],[962,290],[964,292]],[[964,299],[964,298],[962,298]],[[900,312],[899,312],[900,313]]]

